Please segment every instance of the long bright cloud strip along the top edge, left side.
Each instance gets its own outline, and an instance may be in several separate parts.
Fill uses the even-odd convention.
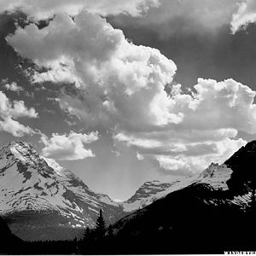
[[[48,19],[60,13],[78,15],[83,9],[99,15],[125,13],[137,16],[158,5],[158,0],[0,0],[0,12],[21,10],[37,20]]]

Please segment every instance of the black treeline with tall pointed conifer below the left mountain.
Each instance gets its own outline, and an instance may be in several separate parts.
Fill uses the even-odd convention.
[[[113,253],[113,228],[106,226],[102,210],[95,229],[86,228],[84,238],[73,241],[22,241],[11,234],[0,218],[0,254],[106,254]]]

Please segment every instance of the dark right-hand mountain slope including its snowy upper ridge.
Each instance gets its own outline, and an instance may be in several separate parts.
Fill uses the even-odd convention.
[[[256,141],[113,225],[121,253],[255,251]]]

